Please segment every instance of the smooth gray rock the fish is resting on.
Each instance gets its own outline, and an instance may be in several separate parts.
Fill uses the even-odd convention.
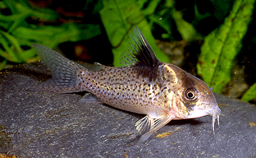
[[[42,63],[0,72],[0,153],[22,157],[256,157],[256,107],[216,94],[225,117],[172,120],[146,142],[143,115],[78,102],[84,93],[31,92],[51,77]]]

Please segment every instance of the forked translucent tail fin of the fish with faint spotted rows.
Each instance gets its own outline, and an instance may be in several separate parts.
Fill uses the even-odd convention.
[[[36,50],[43,64],[51,71],[52,78],[30,90],[52,93],[72,93],[82,90],[79,85],[82,79],[77,75],[86,70],[84,67],[43,45],[31,44],[31,47]]]

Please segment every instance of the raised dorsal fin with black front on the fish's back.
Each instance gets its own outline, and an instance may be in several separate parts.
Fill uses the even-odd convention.
[[[121,65],[148,66],[152,68],[159,63],[160,61],[155,56],[154,51],[147,43],[147,40],[142,35],[142,32],[137,26],[134,26],[133,34],[131,34],[131,40],[129,42],[129,47],[123,53]]]

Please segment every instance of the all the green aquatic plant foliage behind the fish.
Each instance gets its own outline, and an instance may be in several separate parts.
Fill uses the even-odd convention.
[[[232,79],[236,57],[245,45],[243,38],[250,34],[247,28],[255,15],[255,0],[98,0],[82,3],[83,13],[100,17],[93,23],[84,23],[86,18],[60,20],[61,11],[35,3],[0,1],[0,69],[10,62],[38,60],[31,43],[55,48],[65,41],[88,40],[102,34],[108,36],[106,43],[112,45],[113,65],[119,66],[131,27],[136,25],[159,60],[167,63],[170,58],[155,44],[155,39],[203,41],[200,52],[195,53],[197,74],[217,93],[223,92]],[[256,40],[251,41],[251,45],[255,44]],[[256,85],[250,85],[241,97],[244,101],[256,99]]]

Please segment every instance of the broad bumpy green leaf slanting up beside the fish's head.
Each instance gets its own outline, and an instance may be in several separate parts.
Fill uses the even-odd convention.
[[[233,61],[242,47],[242,39],[251,21],[255,0],[235,1],[224,24],[211,32],[201,47],[197,72],[221,93],[231,79]]]

